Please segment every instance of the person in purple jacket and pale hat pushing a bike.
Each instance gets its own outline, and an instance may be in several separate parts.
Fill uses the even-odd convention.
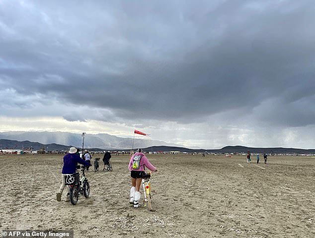
[[[64,156],[64,167],[62,168],[61,172],[61,178],[62,178],[62,184],[60,186],[59,192],[57,193],[57,201],[61,201],[61,195],[64,191],[64,188],[66,186],[65,184],[65,176],[66,175],[72,175],[76,173],[77,171],[77,164],[82,164],[84,166],[91,166],[90,163],[82,160],[79,155],[76,154],[77,148],[71,147],[69,150],[69,153]],[[70,201],[70,192],[69,192],[69,186],[68,186],[68,194],[66,201]]]

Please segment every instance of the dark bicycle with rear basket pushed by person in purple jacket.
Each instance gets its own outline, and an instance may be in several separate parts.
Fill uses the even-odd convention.
[[[80,195],[88,197],[90,193],[90,185],[85,177],[84,167],[78,166],[77,169],[79,168],[82,168],[81,179],[79,172],[65,176],[65,184],[70,187],[70,201],[73,205],[77,204]]]

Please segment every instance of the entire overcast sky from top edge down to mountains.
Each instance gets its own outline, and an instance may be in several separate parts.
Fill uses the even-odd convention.
[[[314,22],[314,0],[0,0],[0,131],[314,149]]]

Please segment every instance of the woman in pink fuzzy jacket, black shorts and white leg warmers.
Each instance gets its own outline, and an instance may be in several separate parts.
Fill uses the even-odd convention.
[[[135,156],[141,156],[139,169],[133,169],[132,166]],[[158,171],[157,168],[149,162],[145,154],[142,153],[142,150],[138,149],[137,152],[130,158],[129,162],[129,171],[132,183],[132,187],[130,189],[130,204],[134,204],[134,207],[136,208],[139,207],[139,201],[141,198],[139,190],[142,182],[142,176],[145,175],[145,167],[154,172]]]

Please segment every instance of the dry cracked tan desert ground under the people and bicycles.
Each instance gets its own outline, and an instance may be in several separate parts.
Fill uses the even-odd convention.
[[[315,237],[315,157],[269,156],[258,166],[245,156],[148,158],[159,170],[151,180],[153,212],[129,205],[127,155],[112,156],[112,172],[92,167],[90,197],[76,206],[56,201],[63,155],[0,155],[0,230],[74,230],[75,238]]]

